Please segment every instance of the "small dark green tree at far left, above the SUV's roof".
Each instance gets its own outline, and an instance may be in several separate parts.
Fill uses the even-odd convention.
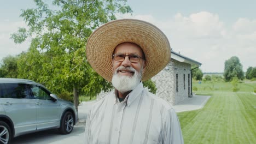
[[[0,68],[0,77],[17,78],[18,56],[7,56],[2,59],[2,65]]]

